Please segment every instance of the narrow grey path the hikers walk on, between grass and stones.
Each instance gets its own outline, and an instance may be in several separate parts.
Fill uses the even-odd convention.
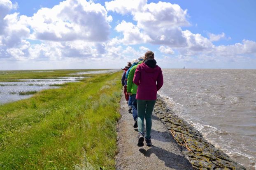
[[[118,130],[119,153],[116,156],[117,170],[193,170],[179,145],[167,132],[168,129],[152,116],[152,146],[137,147],[138,129],[133,128],[133,116],[128,113],[128,104],[121,98]]]

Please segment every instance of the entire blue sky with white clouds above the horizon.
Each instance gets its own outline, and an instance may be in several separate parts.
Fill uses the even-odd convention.
[[[255,0],[0,0],[0,70],[256,69]]]

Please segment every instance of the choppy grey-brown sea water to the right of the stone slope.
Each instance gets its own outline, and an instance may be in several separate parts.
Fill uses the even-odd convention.
[[[256,70],[163,69],[175,113],[248,170],[256,169]]]

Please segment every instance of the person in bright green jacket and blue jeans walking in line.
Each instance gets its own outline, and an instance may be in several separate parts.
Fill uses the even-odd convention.
[[[137,100],[136,100],[136,93],[137,93],[138,86],[133,83],[133,77],[134,77],[134,73],[137,66],[142,63],[143,57],[140,57],[138,61],[139,63],[130,69],[130,72],[127,78],[127,94],[131,95],[133,98],[132,109],[133,109],[133,119],[135,122],[133,125],[134,128],[138,127],[138,123],[137,123],[138,113],[137,113]]]

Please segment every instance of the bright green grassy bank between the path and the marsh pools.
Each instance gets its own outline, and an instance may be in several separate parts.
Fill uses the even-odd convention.
[[[115,169],[120,77],[95,75],[0,105],[0,169]]]

